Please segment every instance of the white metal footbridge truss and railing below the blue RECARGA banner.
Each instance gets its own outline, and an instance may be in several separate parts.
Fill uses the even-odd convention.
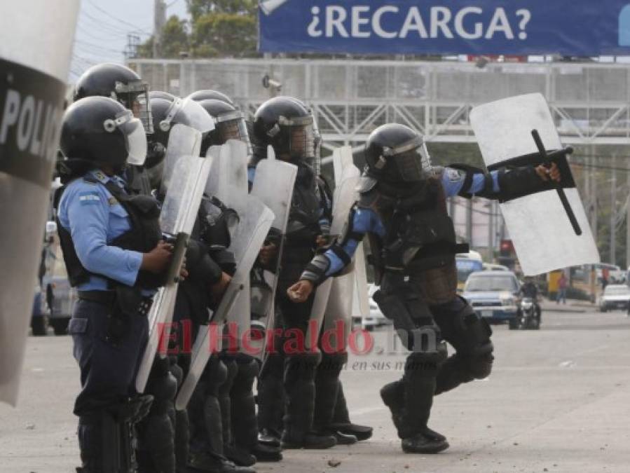
[[[474,105],[542,92],[566,144],[630,144],[630,67],[622,64],[491,63],[363,60],[130,60],[155,90],[185,96],[221,90],[254,112],[273,92],[312,107],[328,147],[365,141],[395,121],[430,142],[474,142]],[[515,110],[515,114],[519,111]]]

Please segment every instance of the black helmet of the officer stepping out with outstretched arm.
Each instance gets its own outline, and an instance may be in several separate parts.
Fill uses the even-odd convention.
[[[411,183],[432,175],[423,137],[406,125],[388,123],[370,133],[365,143],[366,172],[390,183]]]

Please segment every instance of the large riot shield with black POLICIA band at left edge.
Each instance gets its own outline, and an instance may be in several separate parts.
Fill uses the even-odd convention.
[[[13,406],[50,205],[50,176],[78,7],[78,0],[4,1],[0,13],[0,220],[5,222],[0,248],[0,268],[4,268],[0,402]]]

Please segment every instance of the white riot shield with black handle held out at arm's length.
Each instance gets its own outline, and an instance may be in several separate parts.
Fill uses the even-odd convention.
[[[555,156],[559,164],[561,160],[566,164],[549,106],[540,94],[475,107],[470,123],[489,169],[510,160],[526,163],[538,159],[540,163],[543,153],[549,155],[542,156],[543,161]],[[568,184],[500,204],[525,275],[600,261],[570,168],[561,165],[561,170],[563,182]]]

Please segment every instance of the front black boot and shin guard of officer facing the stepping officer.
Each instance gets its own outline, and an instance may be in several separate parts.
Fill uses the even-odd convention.
[[[321,355],[298,353],[285,360],[285,430],[282,448],[330,448],[337,444],[331,435],[313,432],[315,369]]]

